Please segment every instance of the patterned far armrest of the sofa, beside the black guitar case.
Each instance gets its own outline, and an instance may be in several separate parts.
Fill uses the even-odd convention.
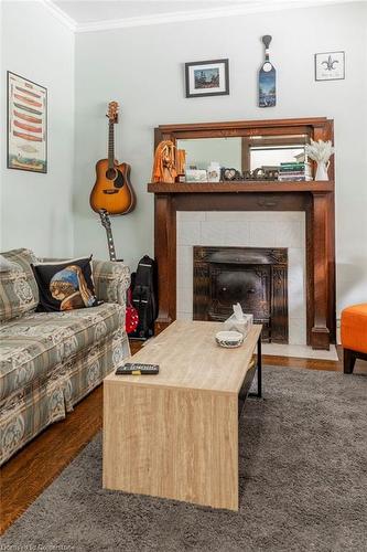
[[[99,300],[126,306],[126,293],[130,286],[130,269],[114,261],[93,261],[93,276]]]

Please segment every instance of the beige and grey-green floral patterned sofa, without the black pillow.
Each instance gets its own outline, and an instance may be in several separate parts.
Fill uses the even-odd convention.
[[[47,425],[63,420],[130,354],[125,331],[129,268],[94,261],[98,307],[35,312],[29,250],[2,253],[0,272],[0,465]]]

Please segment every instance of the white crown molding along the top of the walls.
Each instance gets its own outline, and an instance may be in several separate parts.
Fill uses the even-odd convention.
[[[220,8],[208,8],[203,10],[187,10],[159,13],[153,15],[138,15],[132,18],[95,21],[89,23],[77,23],[67,15],[52,0],[39,0],[68,29],[77,33],[109,31],[133,26],[149,26],[165,23],[180,23],[184,21],[201,21],[205,19],[228,18],[245,15],[248,13],[274,12],[282,10],[294,10],[301,8],[322,8],[341,3],[356,3],[366,0],[257,0],[251,3],[239,6],[224,6]]]

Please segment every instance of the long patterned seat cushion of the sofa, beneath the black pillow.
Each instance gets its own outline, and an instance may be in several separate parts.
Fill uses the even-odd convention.
[[[102,304],[65,312],[32,312],[0,329],[0,399],[40,384],[52,370],[125,327],[125,308]]]

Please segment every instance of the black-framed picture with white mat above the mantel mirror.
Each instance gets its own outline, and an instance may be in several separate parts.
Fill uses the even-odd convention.
[[[185,63],[186,98],[229,94],[228,60]]]

